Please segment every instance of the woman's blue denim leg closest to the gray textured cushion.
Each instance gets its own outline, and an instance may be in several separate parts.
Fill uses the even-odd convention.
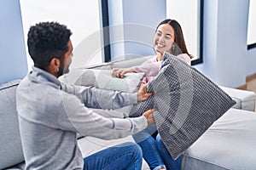
[[[181,160],[180,157],[177,157],[176,160],[172,159],[172,156],[169,154],[168,150],[166,149],[166,145],[163,143],[160,134],[156,136],[158,150],[166,164],[167,169],[172,170],[180,170],[181,169]]]

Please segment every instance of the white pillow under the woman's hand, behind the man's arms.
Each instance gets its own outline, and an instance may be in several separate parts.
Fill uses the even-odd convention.
[[[76,69],[70,71],[64,77],[64,82],[74,83],[81,86],[93,86],[107,90],[117,90],[126,93],[135,93],[140,88],[144,73],[127,73],[124,78],[111,76],[112,70]],[[133,105],[127,105],[115,111],[129,116]]]

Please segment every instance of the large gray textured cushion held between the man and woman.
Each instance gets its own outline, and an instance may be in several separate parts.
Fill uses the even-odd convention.
[[[131,116],[157,108],[154,119],[172,158],[199,139],[236,102],[214,82],[183,60],[164,54],[160,73],[148,82],[156,94],[131,110]]]

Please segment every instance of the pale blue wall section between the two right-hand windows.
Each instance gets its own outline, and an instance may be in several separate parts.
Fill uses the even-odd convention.
[[[207,0],[204,58],[196,65],[218,84],[236,88],[256,72],[256,51],[247,50],[249,0]]]

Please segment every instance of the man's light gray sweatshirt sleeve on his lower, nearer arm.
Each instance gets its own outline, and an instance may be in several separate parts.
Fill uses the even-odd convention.
[[[72,94],[63,94],[58,125],[61,129],[101,139],[119,139],[137,133],[148,126],[145,116],[135,118],[107,118],[84,107]]]

